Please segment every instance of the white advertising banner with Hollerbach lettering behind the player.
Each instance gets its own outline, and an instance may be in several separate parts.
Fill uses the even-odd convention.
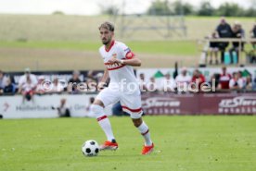
[[[22,100],[21,95],[0,96],[0,115],[4,118],[39,118],[58,117],[58,106],[61,99],[66,99],[66,107],[70,109],[70,116],[92,116],[90,99],[96,94],[49,94],[34,95],[33,100]],[[111,106],[106,107],[106,114],[112,114]]]

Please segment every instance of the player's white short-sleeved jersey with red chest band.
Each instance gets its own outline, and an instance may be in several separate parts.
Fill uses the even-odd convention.
[[[139,86],[134,75],[134,68],[123,64],[109,64],[110,58],[115,57],[120,60],[131,59],[134,54],[130,48],[124,43],[113,41],[109,47],[109,50],[105,48],[105,45],[99,48],[99,53],[104,60],[104,64],[109,70],[110,83],[109,87],[118,89],[123,92],[138,92]],[[128,88],[130,87],[130,89]],[[132,89],[132,90],[131,90]]]

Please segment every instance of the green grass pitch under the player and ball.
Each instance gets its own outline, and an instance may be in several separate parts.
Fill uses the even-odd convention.
[[[255,171],[255,116],[145,116],[156,149],[140,154],[143,139],[129,117],[111,117],[116,152],[85,157],[85,140],[105,140],[94,118],[0,121],[0,170]]]

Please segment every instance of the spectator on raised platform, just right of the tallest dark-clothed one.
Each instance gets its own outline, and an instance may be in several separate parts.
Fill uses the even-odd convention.
[[[243,39],[245,38],[245,31],[242,29],[241,24],[236,21],[232,28],[232,38]],[[233,42],[232,47],[229,49],[230,63],[235,63],[234,54],[237,55],[237,63],[239,62],[239,52],[243,51],[244,43]]]

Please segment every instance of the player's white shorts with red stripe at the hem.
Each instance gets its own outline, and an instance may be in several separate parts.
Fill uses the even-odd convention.
[[[105,107],[109,104],[116,104],[120,101],[122,110],[130,114],[132,118],[140,118],[143,114],[141,108],[141,95],[139,91],[134,92],[133,94],[127,94],[105,88],[103,91],[98,93],[96,99],[100,100]]]

